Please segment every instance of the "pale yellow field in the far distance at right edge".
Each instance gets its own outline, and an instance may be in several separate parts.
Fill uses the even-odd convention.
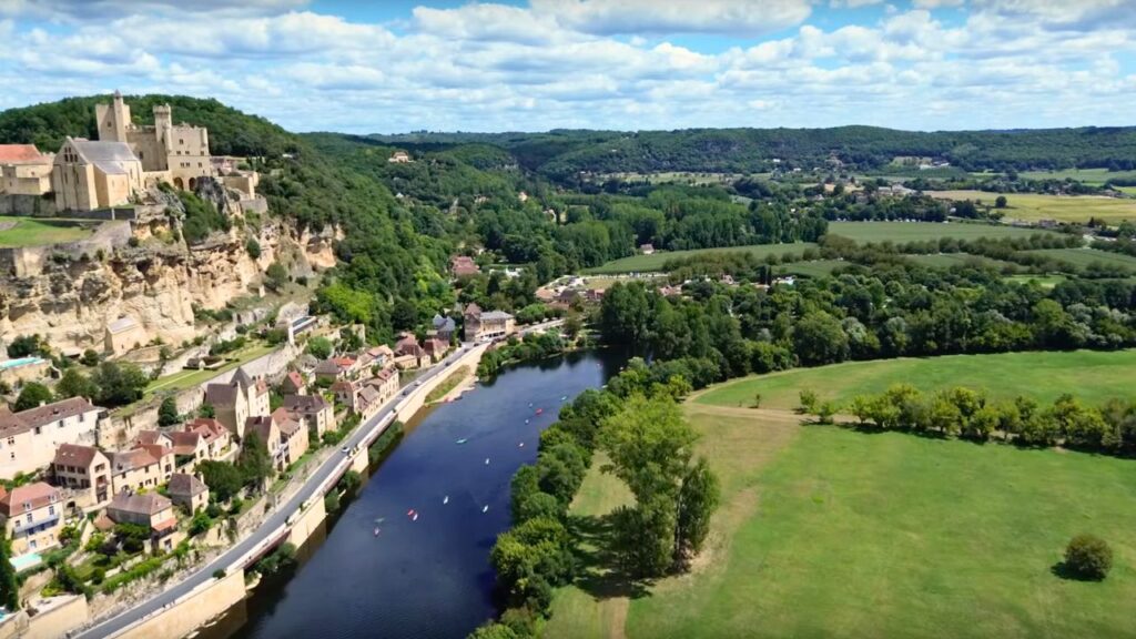
[[[949,200],[982,200],[994,204],[999,193],[985,191],[928,191],[928,194]],[[1136,200],[1100,196],[1046,196],[1042,193],[1006,193],[1009,206],[1005,216],[1013,219],[1058,219],[1088,222],[1096,217],[1110,224],[1136,219]]]

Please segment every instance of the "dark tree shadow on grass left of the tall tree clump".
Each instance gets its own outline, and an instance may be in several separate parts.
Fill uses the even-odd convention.
[[[611,515],[574,516],[571,528],[580,540],[576,546],[577,588],[595,599],[638,599],[651,595],[649,588],[653,581],[627,574],[619,565],[619,557],[611,551],[615,547]]]

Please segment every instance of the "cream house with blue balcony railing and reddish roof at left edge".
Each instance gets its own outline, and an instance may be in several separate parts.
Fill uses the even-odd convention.
[[[0,520],[14,556],[58,546],[64,525],[59,491],[42,481],[16,487],[10,492],[0,488]]]

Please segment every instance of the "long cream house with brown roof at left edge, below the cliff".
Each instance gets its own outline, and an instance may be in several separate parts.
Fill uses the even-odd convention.
[[[82,397],[19,413],[0,407],[0,479],[48,466],[61,443],[94,443],[101,412]]]

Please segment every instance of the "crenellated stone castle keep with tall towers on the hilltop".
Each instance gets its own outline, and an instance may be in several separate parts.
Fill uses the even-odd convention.
[[[209,132],[201,126],[174,124],[169,105],[153,107],[153,124],[134,124],[131,107],[115,92],[110,105],[95,105],[99,140],[128,146],[145,172],[168,172],[169,182],[192,191],[201,177],[212,177]]]

